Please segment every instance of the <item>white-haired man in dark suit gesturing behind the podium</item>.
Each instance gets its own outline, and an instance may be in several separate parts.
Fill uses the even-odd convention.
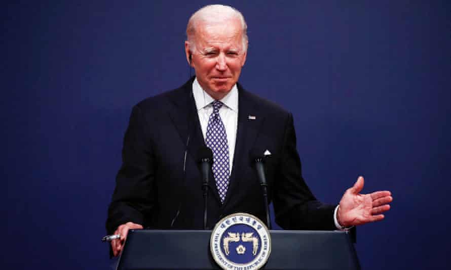
[[[246,62],[247,26],[237,10],[206,6],[190,18],[185,53],[196,77],[146,99],[132,111],[123,165],[108,210],[108,233],[118,255],[129,229],[202,229],[203,201],[197,151],[213,150],[209,228],[235,212],[265,220],[249,153],[266,149],[269,199],[276,222],[291,230],[346,230],[381,220],[390,192],[359,194],[363,177],[338,206],[315,199],[304,182],[292,115],[237,83]],[[263,154],[263,153],[261,153]]]

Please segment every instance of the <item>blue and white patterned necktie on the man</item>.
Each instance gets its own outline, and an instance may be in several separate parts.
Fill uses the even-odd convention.
[[[212,105],[213,113],[208,119],[205,143],[213,151],[212,171],[219,197],[221,202],[224,202],[225,194],[229,188],[229,144],[224,124],[219,116],[219,108],[222,107],[222,102],[215,100]]]

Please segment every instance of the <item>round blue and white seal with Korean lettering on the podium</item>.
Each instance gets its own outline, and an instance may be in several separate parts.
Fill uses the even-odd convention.
[[[216,224],[210,250],[222,269],[259,269],[271,253],[271,236],[265,223],[257,217],[235,213]]]

